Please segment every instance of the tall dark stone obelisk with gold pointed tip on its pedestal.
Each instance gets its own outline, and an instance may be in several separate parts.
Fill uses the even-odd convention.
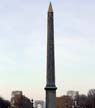
[[[47,18],[47,81],[46,108],[56,108],[55,58],[54,58],[54,21],[50,3]]]

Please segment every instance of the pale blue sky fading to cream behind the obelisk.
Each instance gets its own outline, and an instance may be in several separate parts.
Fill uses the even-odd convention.
[[[0,1],[0,95],[44,99],[49,0]],[[95,83],[95,1],[51,0],[57,96],[87,93]]]

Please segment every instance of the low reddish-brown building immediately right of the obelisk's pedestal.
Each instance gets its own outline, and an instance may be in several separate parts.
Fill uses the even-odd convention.
[[[72,108],[73,102],[70,96],[56,98],[56,108]]]

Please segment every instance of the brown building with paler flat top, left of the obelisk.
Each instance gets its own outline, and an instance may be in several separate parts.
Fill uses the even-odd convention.
[[[25,97],[22,91],[13,91],[11,97],[11,108],[32,108],[32,102]]]

